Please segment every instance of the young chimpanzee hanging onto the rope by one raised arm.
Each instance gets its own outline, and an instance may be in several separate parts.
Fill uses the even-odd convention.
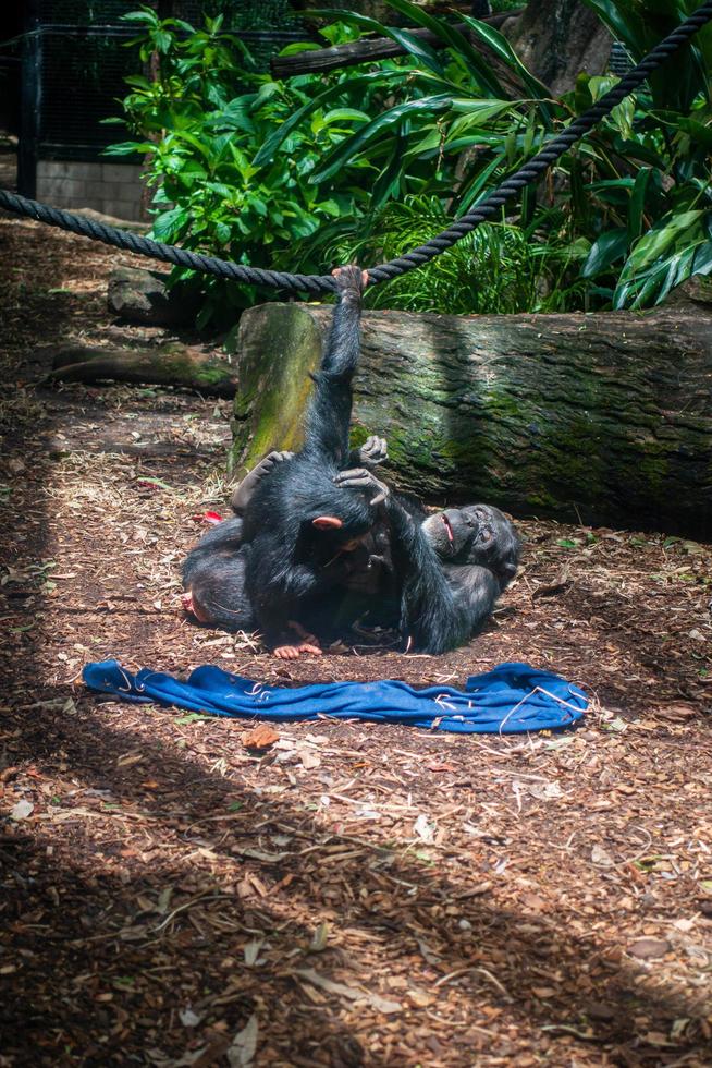
[[[352,379],[359,354],[361,276],[345,267],[336,276],[339,303],[306,418],[304,448],[260,482],[244,512],[250,545],[247,597],[268,644],[278,644],[295,621],[314,624],[331,592],[354,570],[351,544],[375,526],[369,495],[342,490],[333,478],[348,458]],[[319,530],[321,517],[339,530]],[[360,546],[356,547],[360,553]],[[357,563],[358,566],[358,563]]]

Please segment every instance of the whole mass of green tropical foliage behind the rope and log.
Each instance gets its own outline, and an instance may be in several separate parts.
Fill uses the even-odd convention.
[[[355,12],[323,12],[337,20],[327,43],[376,33],[406,56],[285,83],[257,73],[220,19],[196,32],[149,10],[127,16],[145,58],[158,57],[158,76],[132,80],[126,119],[144,139],[113,150],[149,155],[157,236],[319,272],[348,255],[390,258],[469,209],[616,82],[581,75],[552,99],[486,23],[459,15],[465,36],[409,0],[389,2],[445,47]],[[638,0],[587,2],[635,61],[696,7],[656,0],[641,14]],[[708,28],[528,190],[520,213],[372,301],[463,312],[642,307],[710,272],[710,70]],[[228,292],[240,304],[256,296],[207,284],[206,317]]]

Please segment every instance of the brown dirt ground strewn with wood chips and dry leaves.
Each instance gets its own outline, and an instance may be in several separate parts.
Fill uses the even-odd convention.
[[[38,345],[162,336],[106,311],[135,260],[9,217],[0,260],[0,1065],[712,1064],[711,547],[521,522],[468,647],[280,664],[180,607],[229,404],[38,385]],[[526,660],[591,706],[255,752],[251,724],[86,692],[110,657],[282,684]]]

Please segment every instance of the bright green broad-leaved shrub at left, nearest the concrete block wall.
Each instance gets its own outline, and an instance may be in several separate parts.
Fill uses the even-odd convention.
[[[343,104],[316,108],[308,123],[285,135],[279,153],[258,163],[259,147],[304,104],[310,80],[295,78],[287,86],[257,73],[245,46],[221,32],[221,16],[207,20],[205,31],[159,20],[148,9],[125,19],[142,28],[134,44],[146,62],[158,59],[157,73],[152,80],[127,80],[125,121],[143,139],[108,153],[147,157],[156,190],[155,238],[268,267],[324,222],[358,213],[366,192],[357,183],[317,185],[309,175],[334,142],[367,121],[365,112]],[[368,169],[366,161],[352,172],[361,169]],[[174,271],[174,277],[191,272]],[[201,284],[208,299],[199,325],[219,308],[245,306],[256,298],[249,287],[217,279]]]

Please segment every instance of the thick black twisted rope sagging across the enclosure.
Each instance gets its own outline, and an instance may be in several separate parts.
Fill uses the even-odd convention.
[[[661,40],[649,56],[641,60],[637,66],[634,66],[610,93],[602,96],[598,104],[575,119],[563,133],[550,141],[545,148],[511,178],[507,178],[498,190],[490,193],[462,219],[453,222],[452,226],[425,245],[420,245],[396,259],[391,259],[386,264],[370,267],[368,271],[369,283],[389,281],[414,270],[416,267],[421,267],[430,259],[439,256],[440,253],[452,247],[455,242],[470,233],[480,222],[495,215],[507,201],[513,199],[525,186],[537,181],[575,142],[592,130],[622,100],[642,85],[653,71],[658,70],[710,19],[712,19],[712,0],[705,0],[672,34]],[[152,259],[161,259],[179,267],[191,267],[207,275],[217,275],[219,278],[230,278],[253,286],[272,286],[282,290],[307,292],[311,295],[334,289],[334,279],[331,275],[291,275],[287,271],[263,270],[260,267],[243,267],[225,259],[217,259],[214,256],[188,252],[187,248],[179,248],[176,245],[165,245],[161,241],[152,241],[150,238],[143,238],[126,230],[116,230],[114,227],[95,222],[82,215],[73,215],[71,211],[51,208],[38,201],[29,201],[16,193],[11,193],[9,190],[0,190],[0,207],[13,211],[15,215],[28,216],[30,219],[46,222],[51,227],[59,227],[62,230],[91,238],[94,241],[102,241],[105,244],[114,245],[116,248],[125,248],[139,256],[150,256]]]

